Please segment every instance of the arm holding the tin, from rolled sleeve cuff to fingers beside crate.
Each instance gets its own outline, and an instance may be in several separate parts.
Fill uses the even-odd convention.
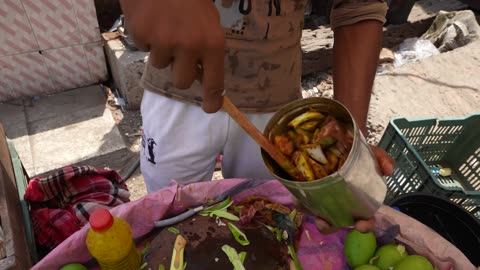
[[[334,98],[350,110],[364,135],[386,12],[384,0],[334,0],[331,12]],[[379,147],[372,150],[383,173],[391,175],[394,160]]]

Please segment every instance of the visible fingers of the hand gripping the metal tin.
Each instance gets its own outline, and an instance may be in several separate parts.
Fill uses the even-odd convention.
[[[388,153],[385,152],[385,150],[383,150],[382,148],[375,145],[370,145],[370,147],[372,148],[373,154],[377,159],[378,165],[380,166],[382,173],[386,176],[392,175],[393,170],[395,168],[395,160],[392,157],[390,157]],[[315,224],[318,230],[323,233],[331,233],[336,230],[321,218],[316,218]],[[374,226],[375,226],[375,218],[372,217],[369,219],[357,220],[355,222],[354,228],[360,232],[369,232],[373,230]]]

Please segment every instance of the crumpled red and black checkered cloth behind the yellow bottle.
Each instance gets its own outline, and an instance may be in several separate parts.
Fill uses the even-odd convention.
[[[115,171],[68,166],[31,179],[25,200],[32,209],[37,242],[53,249],[87,224],[90,213],[129,202],[130,193]]]

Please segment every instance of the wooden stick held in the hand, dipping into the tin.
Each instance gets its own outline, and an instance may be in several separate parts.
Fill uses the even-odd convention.
[[[283,155],[273,144],[271,144],[265,136],[248,120],[248,118],[232,103],[227,97],[223,97],[223,109],[230,115],[230,117],[242,127],[250,137],[267,152],[270,157],[277,162],[293,179],[303,181],[302,173],[290,162],[290,160]]]

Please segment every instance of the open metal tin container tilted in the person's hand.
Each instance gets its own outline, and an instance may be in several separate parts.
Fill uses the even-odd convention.
[[[262,150],[265,165],[272,174],[313,214],[335,227],[348,227],[356,219],[372,217],[383,204],[387,186],[370,146],[350,112],[339,102],[320,97],[291,102],[278,110],[268,122],[264,135],[285,134],[296,116],[315,109],[351,123],[354,140],[345,164],[335,173],[308,182],[292,181],[277,163]]]

